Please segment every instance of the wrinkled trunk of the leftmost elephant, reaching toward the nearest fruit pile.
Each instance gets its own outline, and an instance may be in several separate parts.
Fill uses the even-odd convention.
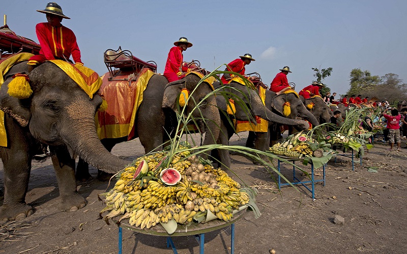
[[[114,156],[100,142],[95,129],[94,119],[84,122],[71,123],[71,126],[81,126],[75,130],[68,130],[61,133],[65,140],[75,153],[77,153],[85,162],[107,173],[117,173],[125,168],[128,162]]]

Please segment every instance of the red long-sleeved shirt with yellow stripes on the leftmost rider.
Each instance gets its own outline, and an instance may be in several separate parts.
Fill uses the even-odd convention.
[[[82,63],[76,37],[71,29],[63,25],[51,26],[44,22],[38,23],[35,30],[41,45],[40,54],[45,55],[47,60],[69,59],[72,55],[75,63]]]

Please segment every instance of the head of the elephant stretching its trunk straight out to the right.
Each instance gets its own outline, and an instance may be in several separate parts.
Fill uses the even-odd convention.
[[[269,108],[267,108],[267,106],[263,104],[258,95],[257,90],[251,89],[245,85],[240,84],[239,82],[232,81],[229,84],[224,85],[223,89],[228,93],[234,93],[235,96],[238,96],[246,104],[247,108],[250,109],[250,113],[254,116],[261,117],[270,122],[295,125],[298,126],[298,128],[300,128],[301,130],[306,130],[309,127],[306,121],[298,119],[288,119],[273,113]],[[235,114],[236,119],[247,120],[248,119],[247,112],[245,112],[245,110],[239,104],[235,103],[235,106],[236,106]]]

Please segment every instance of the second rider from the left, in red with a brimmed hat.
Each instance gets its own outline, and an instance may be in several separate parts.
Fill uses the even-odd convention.
[[[180,40],[174,43],[175,47],[169,50],[167,62],[165,63],[164,77],[168,82],[180,80],[185,77],[186,72],[190,72],[191,69],[182,65],[184,55],[182,51],[192,47],[192,43],[188,42],[188,39],[181,37]]]

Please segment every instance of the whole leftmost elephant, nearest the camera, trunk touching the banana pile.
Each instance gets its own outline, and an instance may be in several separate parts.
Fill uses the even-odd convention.
[[[30,98],[10,97],[9,83],[17,73],[28,73],[26,61],[8,71],[0,89],[0,109],[5,112],[8,137],[7,147],[0,147],[5,184],[0,219],[19,220],[33,214],[25,195],[32,159],[44,153],[52,158],[61,197],[59,208],[82,208],[86,200],[76,190],[75,155],[109,173],[117,173],[128,164],[109,153],[98,139],[94,116],[102,99],[97,94],[90,99],[52,62],[28,74],[33,90]]]

